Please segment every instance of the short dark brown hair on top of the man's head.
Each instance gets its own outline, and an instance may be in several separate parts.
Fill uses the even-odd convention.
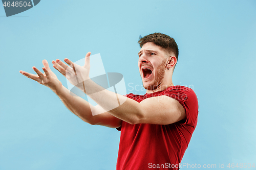
[[[174,53],[175,57],[178,60],[179,56],[179,48],[177,43],[175,42],[174,38],[169,37],[168,35],[162,33],[154,33],[149,34],[144,37],[140,36],[138,43],[140,47],[142,47],[147,42],[153,42],[154,44],[161,46],[164,48],[168,53]]]

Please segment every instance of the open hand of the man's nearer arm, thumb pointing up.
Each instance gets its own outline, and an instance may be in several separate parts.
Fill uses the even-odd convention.
[[[65,76],[71,84],[78,87],[85,93],[83,82],[90,79],[90,55],[91,52],[88,52],[86,54],[83,66],[77,65],[66,58],[64,59],[64,61],[69,64],[70,67],[59,59],[52,61],[52,63],[54,64],[53,67],[57,69],[63,76]]]

